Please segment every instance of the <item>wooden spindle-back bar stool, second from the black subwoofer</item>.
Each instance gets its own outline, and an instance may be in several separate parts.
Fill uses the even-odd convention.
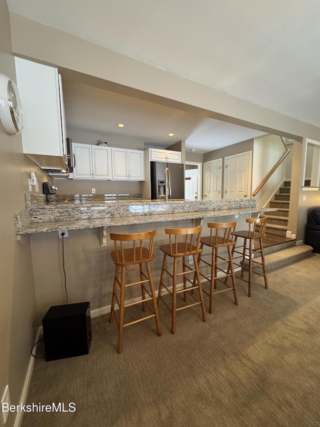
[[[196,259],[196,255],[198,255],[201,252],[201,249],[199,248],[201,226],[193,227],[193,228],[165,228],[164,231],[165,231],[165,234],[169,235],[169,244],[161,245],[159,247],[159,249],[164,253],[164,255],[163,255],[163,263],[162,263],[157,304],[159,304],[159,301],[162,300],[164,305],[171,312],[171,315],[172,315],[171,333],[173,334],[175,332],[176,311],[182,310],[183,308],[200,304],[202,309],[203,321],[204,322],[206,321],[202,287],[201,287],[201,281],[199,276],[198,263]],[[192,269],[189,265],[186,264],[185,258],[188,256],[192,256],[193,258],[194,269]],[[173,262],[167,263],[166,262],[167,257],[173,258]],[[181,258],[181,261],[178,261],[178,258]],[[179,273],[177,272],[178,263],[182,263],[182,272],[179,272]],[[173,265],[172,273],[167,269],[169,265]],[[168,274],[167,277],[164,277],[164,272]],[[197,283],[195,283],[195,280],[191,281],[186,276],[187,273],[195,273]],[[183,277],[183,287],[177,289],[176,279],[179,276]],[[168,289],[168,287],[163,283],[165,279],[170,279],[170,278],[172,279],[172,290]],[[186,282],[191,283],[191,286],[187,287]],[[161,296],[163,287],[172,296],[171,308],[165,303],[165,301]],[[193,295],[194,289],[198,289],[200,300],[197,300]],[[192,291],[192,293],[190,291]],[[183,293],[184,301],[186,301],[186,294],[188,293],[195,300],[195,302],[176,308],[176,295],[178,293]]]

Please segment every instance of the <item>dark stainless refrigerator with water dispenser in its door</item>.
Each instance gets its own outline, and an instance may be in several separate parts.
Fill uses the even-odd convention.
[[[165,168],[170,171],[170,198],[184,199],[184,166],[180,163],[150,162],[151,199],[165,200]]]

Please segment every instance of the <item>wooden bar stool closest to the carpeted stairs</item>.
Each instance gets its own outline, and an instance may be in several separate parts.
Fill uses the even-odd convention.
[[[238,237],[241,237],[243,239],[243,244],[240,246],[236,246],[235,243],[232,249],[232,257],[233,260],[240,259],[239,263],[234,262],[234,265],[241,267],[241,276],[236,277],[248,283],[248,296],[250,297],[252,280],[256,279],[257,277],[263,276],[265,289],[268,288],[262,243],[262,238],[266,236],[265,227],[267,217],[261,216],[259,218],[246,218],[245,221],[249,224],[249,229],[236,231],[234,233],[235,242],[237,241]],[[260,254],[261,260],[254,261],[253,254],[254,256],[256,254]],[[257,267],[259,265],[262,266],[262,274],[252,270],[254,267]],[[244,279],[244,271],[248,272],[248,280]]]

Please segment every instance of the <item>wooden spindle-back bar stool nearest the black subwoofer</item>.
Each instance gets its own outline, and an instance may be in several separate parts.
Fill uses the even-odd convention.
[[[114,240],[115,250],[111,252],[112,261],[115,264],[115,273],[113,281],[113,292],[112,292],[112,302],[111,302],[111,312],[109,322],[112,320],[114,314],[114,304],[115,302],[119,306],[119,319],[116,318],[119,335],[118,335],[118,353],[122,352],[122,338],[123,338],[123,327],[132,325],[133,323],[140,322],[142,320],[149,319],[150,317],[155,317],[156,329],[159,336],[161,336],[160,322],[158,316],[158,309],[156,305],[156,298],[154,294],[154,286],[152,281],[151,270],[149,262],[153,261],[155,256],[153,255],[153,237],[155,235],[155,230],[147,231],[144,233],[134,233],[134,234],[115,234],[110,233],[110,239]],[[148,240],[147,247],[143,246],[143,240]],[[126,242],[126,245],[125,243]],[[129,247],[124,247],[128,246]],[[146,274],[143,271],[143,265],[146,266]],[[139,265],[138,268],[126,269],[129,265]],[[120,274],[119,274],[119,270]],[[126,283],[125,284],[125,274],[132,271],[139,271],[140,280],[136,282]],[[121,279],[119,280],[119,275]],[[149,283],[149,291],[145,287]],[[125,298],[125,289],[128,286],[140,285],[141,286],[141,299],[136,301],[137,297]],[[120,290],[120,300],[117,296],[117,291]],[[146,297],[145,293],[148,294]],[[133,301],[132,301],[133,300]],[[131,301],[131,302],[129,302]],[[151,307],[147,301],[152,301]],[[152,314],[141,317],[137,320],[131,321],[129,323],[124,323],[124,308],[142,303],[142,310],[145,311],[145,307],[150,308]]]

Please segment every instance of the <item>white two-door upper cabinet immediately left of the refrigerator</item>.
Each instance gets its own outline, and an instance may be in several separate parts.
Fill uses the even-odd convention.
[[[144,151],[111,148],[112,179],[143,181]]]

